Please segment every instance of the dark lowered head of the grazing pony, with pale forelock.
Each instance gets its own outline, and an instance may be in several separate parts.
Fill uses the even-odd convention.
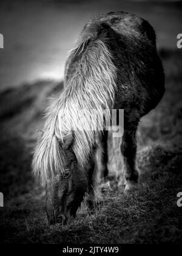
[[[79,166],[73,151],[73,134],[67,135],[62,140],[58,140],[53,135],[52,141],[49,140],[50,144],[45,143],[45,137],[46,135],[41,134],[33,167],[36,171],[38,162],[41,161],[39,176],[44,176],[42,178],[46,190],[45,208],[49,223],[64,223],[71,216],[75,217],[83,201],[88,187],[89,170],[92,166],[91,162],[87,163],[84,169]],[[47,169],[44,170],[44,168]]]

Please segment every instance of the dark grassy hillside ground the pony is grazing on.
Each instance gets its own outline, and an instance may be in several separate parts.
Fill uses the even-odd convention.
[[[45,98],[61,91],[62,84],[43,81],[0,94],[0,243],[182,242],[182,212],[177,207],[177,193],[182,191],[182,54],[161,51],[161,57],[166,94],[140,123],[138,190],[126,195],[118,189],[121,157],[118,141],[112,141],[110,175],[96,191],[95,211],[90,215],[83,202],[76,219],[66,226],[48,226],[44,188],[31,174],[35,130],[42,126]]]

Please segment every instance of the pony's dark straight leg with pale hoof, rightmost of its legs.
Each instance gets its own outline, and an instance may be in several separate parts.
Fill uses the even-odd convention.
[[[121,153],[125,166],[125,191],[130,191],[136,187],[138,181],[138,171],[136,170],[136,129],[138,122],[125,122],[124,134],[121,143]]]

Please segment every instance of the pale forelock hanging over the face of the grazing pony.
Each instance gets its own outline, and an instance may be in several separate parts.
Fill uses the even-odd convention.
[[[54,130],[45,130],[33,154],[33,174],[43,183],[53,175],[60,174],[63,169],[61,154]]]

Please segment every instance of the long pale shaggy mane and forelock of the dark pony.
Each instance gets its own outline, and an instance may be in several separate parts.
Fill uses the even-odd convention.
[[[65,89],[47,109],[44,135],[40,138],[33,157],[33,172],[45,182],[49,177],[64,172],[64,151],[61,141],[73,127],[84,127],[73,132],[73,151],[78,165],[84,168],[95,143],[95,131],[89,129],[92,110],[94,127],[103,125],[103,110],[110,112],[116,93],[116,67],[112,54],[102,38],[102,25],[96,21],[83,30],[67,59]],[[78,115],[81,113],[83,118]]]

